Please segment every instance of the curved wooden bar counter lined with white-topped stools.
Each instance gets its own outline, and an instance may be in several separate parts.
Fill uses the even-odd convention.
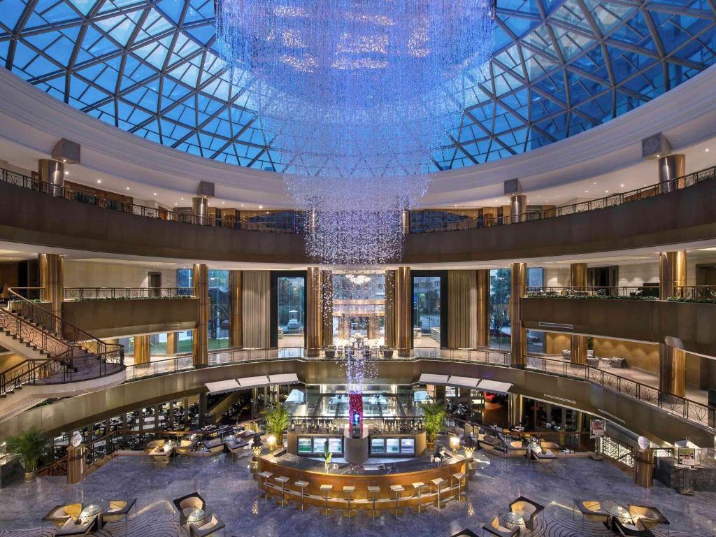
[[[468,459],[462,455],[441,463],[427,456],[392,463],[334,463],[329,470],[321,460],[295,455],[263,455],[256,462],[258,488],[264,494],[268,489],[279,503],[293,501],[299,508],[400,513],[408,507],[419,511],[420,505],[422,511],[427,505],[462,500],[468,488]]]

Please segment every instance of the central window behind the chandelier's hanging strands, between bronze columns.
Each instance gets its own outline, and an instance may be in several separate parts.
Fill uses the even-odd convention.
[[[337,344],[360,335],[383,344],[385,274],[333,274],[333,337]]]

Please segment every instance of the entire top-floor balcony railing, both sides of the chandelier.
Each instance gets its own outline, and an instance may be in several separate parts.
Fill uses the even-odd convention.
[[[97,207],[109,209],[111,211],[120,211],[135,216],[144,216],[145,218],[158,218],[160,220],[180,223],[190,223],[198,226],[212,226],[226,229],[242,229],[248,231],[263,231],[267,233],[305,233],[306,231],[306,213],[303,211],[284,211],[281,221],[277,222],[274,216],[251,216],[248,218],[220,218],[210,216],[199,216],[190,212],[169,211],[168,209],[158,207],[147,207],[145,205],[137,205],[125,201],[112,200],[102,198],[100,195],[88,194],[72,188],[57,186],[52,183],[44,183],[21,173],[0,168],[0,180],[4,183],[16,185],[22,188],[30,188],[48,195],[65,198],[68,200],[84,203],[87,205],[95,205]],[[455,213],[445,210],[443,215],[445,220],[432,221],[430,223],[411,223],[410,228],[406,229],[408,233],[434,233],[437,231],[460,231],[464,229],[491,228],[494,226],[505,226],[508,224],[533,222],[545,220],[547,218],[558,218],[560,216],[570,216],[587,211],[596,211],[614,207],[616,205],[624,205],[634,201],[653,198],[657,195],[672,193],[675,190],[690,188],[706,180],[710,180],[716,176],[716,167],[706,168],[683,177],[669,180],[665,183],[657,183],[644,188],[636,188],[622,193],[614,193],[604,198],[596,198],[594,200],[581,201],[579,203],[571,203],[569,205],[561,205],[560,207],[543,209],[541,211],[527,211],[525,213],[514,214],[510,216],[478,216],[477,218],[468,218],[462,220],[450,220],[452,218],[460,218]]]

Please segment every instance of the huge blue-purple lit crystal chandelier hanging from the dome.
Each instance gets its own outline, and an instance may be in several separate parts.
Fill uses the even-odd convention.
[[[311,258],[395,261],[432,152],[483,99],[492,2],[216,0],[218,49],[307,211]]]

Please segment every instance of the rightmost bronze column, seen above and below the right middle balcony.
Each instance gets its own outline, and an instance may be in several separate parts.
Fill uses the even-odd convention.
[[[685,285],[686,252],[659,253],[659,300],[668,300]],[[659,343],[659,390],[667,395],[686,395],[686,353],[667,342]]]

